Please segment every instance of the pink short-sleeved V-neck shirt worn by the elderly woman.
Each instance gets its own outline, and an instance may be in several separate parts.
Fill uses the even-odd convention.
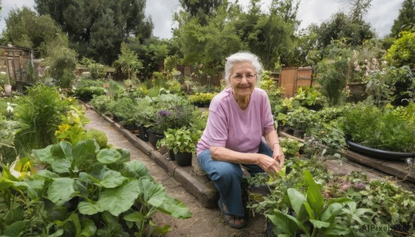
[[[234,99],[232,88],[226,88],[210,102],[208,124],[196,153],[199,155],[210,146],[257,153],[262,136],[273,130],[270,101],[264,90],[255,88],[248,108],[242,111]]]

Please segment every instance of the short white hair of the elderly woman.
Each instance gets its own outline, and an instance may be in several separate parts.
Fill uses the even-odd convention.
[[[249,62],[255,68],[255,73],[257,73],[257,83],[261,82],[261,76],[259,76],[259,73],[262,70],[262,65],[259,62],[259,58],[257,57],[257,55],[248,52],[234,53],[233,55],[230,55],[226,58],[224,78],[225,82],[227,84],[230,84],[230,73],[232,73],[232,69],[235,66],[235,64],[239,64],[241,62]]]

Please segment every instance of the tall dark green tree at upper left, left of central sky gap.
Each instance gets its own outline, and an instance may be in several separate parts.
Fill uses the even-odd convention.
[[[111,64],[128,37],[144,41],[151,36],[154,24],[145,17],[145,3],[146,0],[35,0],[35,8],[62,26],[71,48],[80,57]]]

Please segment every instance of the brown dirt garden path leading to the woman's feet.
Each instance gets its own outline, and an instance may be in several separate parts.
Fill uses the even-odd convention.
[[[248,225],[242,229],[230,227],[223,216],[219,207],[208,209],[203,207],[199,201],[183,186],[161,167],[158,167],[145,153],[142,153],[136,146],[133,146],[122,133],[107,123],[100,115],[91,109],[86,109],[86,116],[91,120],[86,124],[86,129],[98,129],[107,133],[109,144],[118,148],[129,149],[131,159],[140,160],[145,164],[151,176],[156,182],[163,184],[167,193],[181,200],[192,213],[192,218],[179,220],[158,213],[154,216],[154,222],[158,225],[170,225],[171,231],[166,236],[198,236],[198,237],[248,237],[266,236],[266,219],[261,214],[250,214]]]

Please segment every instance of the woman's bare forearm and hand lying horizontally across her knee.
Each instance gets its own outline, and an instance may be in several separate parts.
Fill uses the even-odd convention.
[[[257,164],[267,173],[276,173],[281,170],[279,163],[275,159],[270,159],[268,155],[259,153],[241,153],[232,151],[223,146],[210,146],[212,160],[220,160],[237,164]]]

